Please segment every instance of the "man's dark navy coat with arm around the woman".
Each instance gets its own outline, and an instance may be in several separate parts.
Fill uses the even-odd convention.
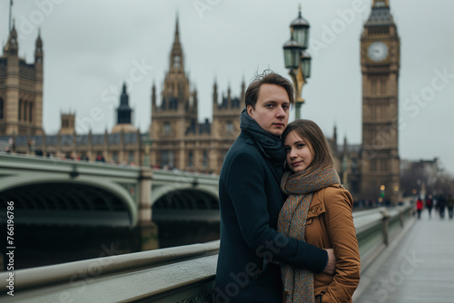
[[[275,261],[315,272],[326,266],[324,250],[276,231],[285,201],[277,164],[258,150],[248,132],[225,157],[219,180],[218,302],[281,302],[281,270]]]

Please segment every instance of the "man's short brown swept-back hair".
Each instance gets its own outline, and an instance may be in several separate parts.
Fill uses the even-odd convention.
[[[245,96],[246,107],[248,107],[248,105],[251,105],[252,108],[255,109],[255,103],[257,103],[257,99],[259,99],[260,87],[262,86],[262,84],[275,84],[281,86],[289,95],[291,105],[295,103],[293,96],[293,84],[287,78],[282,77],[280,74],[266,70],[262,74],[255,76],[255,79],[252,80],[252,83],[249,84]]]

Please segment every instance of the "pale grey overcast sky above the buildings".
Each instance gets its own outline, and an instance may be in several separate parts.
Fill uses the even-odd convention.
[[[5,45],[8,4],[0,0]],[[19,54],[34,61],[38,27],[44,43],[44,131],[60,128],[60,112],[75,112],[76,131],[109,132],[123,81],[145,132],[151,87],[163,87],[180,19],[185,69],[198,90],[199,120],[212,120],[212,83],[238,95],[258,71],[287,75],[282,45],[291,21],[311,24],[312,74],[302,92],[301,116],[338,143],[361,141],[360,34],[371,0],[15,0]],[[400,158],[439,157],[454,174],[454,1],[390,0],[401,42]],[[140,66],[140,67],[138,67]],[[141,72],[142,71],[142,72]],[[444,75],[443,75],[444,74]],[[420,96],[418,98],[418,95]],[[418,101],[419,100],[419,101]],[[293,118],[291,117],[291,120]]]

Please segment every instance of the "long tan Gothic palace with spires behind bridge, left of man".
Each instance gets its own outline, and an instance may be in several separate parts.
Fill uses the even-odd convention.
[[[208,119],[199,122],[197,91],[191,89],[192,83],[184,71],[178,20],[159,103],[156,87],[154,84],[152,87],[152,122],[147,133],[133,126],[133,110],[123,84],[116,109],[117,122],[111,132],[76,133],[75,113],[64,112],[60,131],[46,135],[42,128],[43,42],[40,35],[36,40],[35,64],[26,64],[17,57],[17,51],[17,34],[13,27],[0,57],[0,142],[12,139],[13,152],[218,173],[225,154],[240,133],[244,83],[240,97],[233,97],[230,88],[227,95],[219,96],[217,83],[214,83],[212,122]]]

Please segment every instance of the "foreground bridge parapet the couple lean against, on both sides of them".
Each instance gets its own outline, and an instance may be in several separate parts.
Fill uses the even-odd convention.
[[[354,212],[361,271],[397,237],[413,211],[408,205]],[[218,250],[219,240],[21,269],[13,279],[3,272],[0,301],[214,302]],[[14,297],[7,294],[11,289]]]

